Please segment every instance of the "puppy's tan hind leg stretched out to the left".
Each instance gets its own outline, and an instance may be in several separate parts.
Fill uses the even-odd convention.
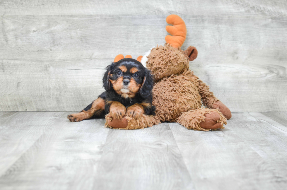
[[[87,111],[82,110],[79,113],[68,115],[68,119],[72,122],[82,121],[84,119],[90,119],[93,115],[100,115],[105,110],[105,100],[98,98],[93,101],[92,107]]]

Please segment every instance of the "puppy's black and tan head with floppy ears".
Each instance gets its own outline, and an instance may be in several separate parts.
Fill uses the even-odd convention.
[[[139,95],[147,97],[153,89],[153,77],[148,69],[131,58],[121,59],[107,66],[107,71],[102,79],[106,91],[114,89],[124,98]]]

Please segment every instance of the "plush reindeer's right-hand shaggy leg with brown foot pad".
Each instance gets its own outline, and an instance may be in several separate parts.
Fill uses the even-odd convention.
[[[224,129],[226,118],[218,109],[199,108],[184,112],[177,120],[187,129],[209,131],[211,129]]]

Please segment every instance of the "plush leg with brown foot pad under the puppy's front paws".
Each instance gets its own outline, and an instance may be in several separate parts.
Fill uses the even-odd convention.
[[[122,120],[112,118],[110,114],[106,115],[105,127],[112,129],[144,129],[160,123],[160,120],[152,115],[143,114],[139,119],[126,116]]]

